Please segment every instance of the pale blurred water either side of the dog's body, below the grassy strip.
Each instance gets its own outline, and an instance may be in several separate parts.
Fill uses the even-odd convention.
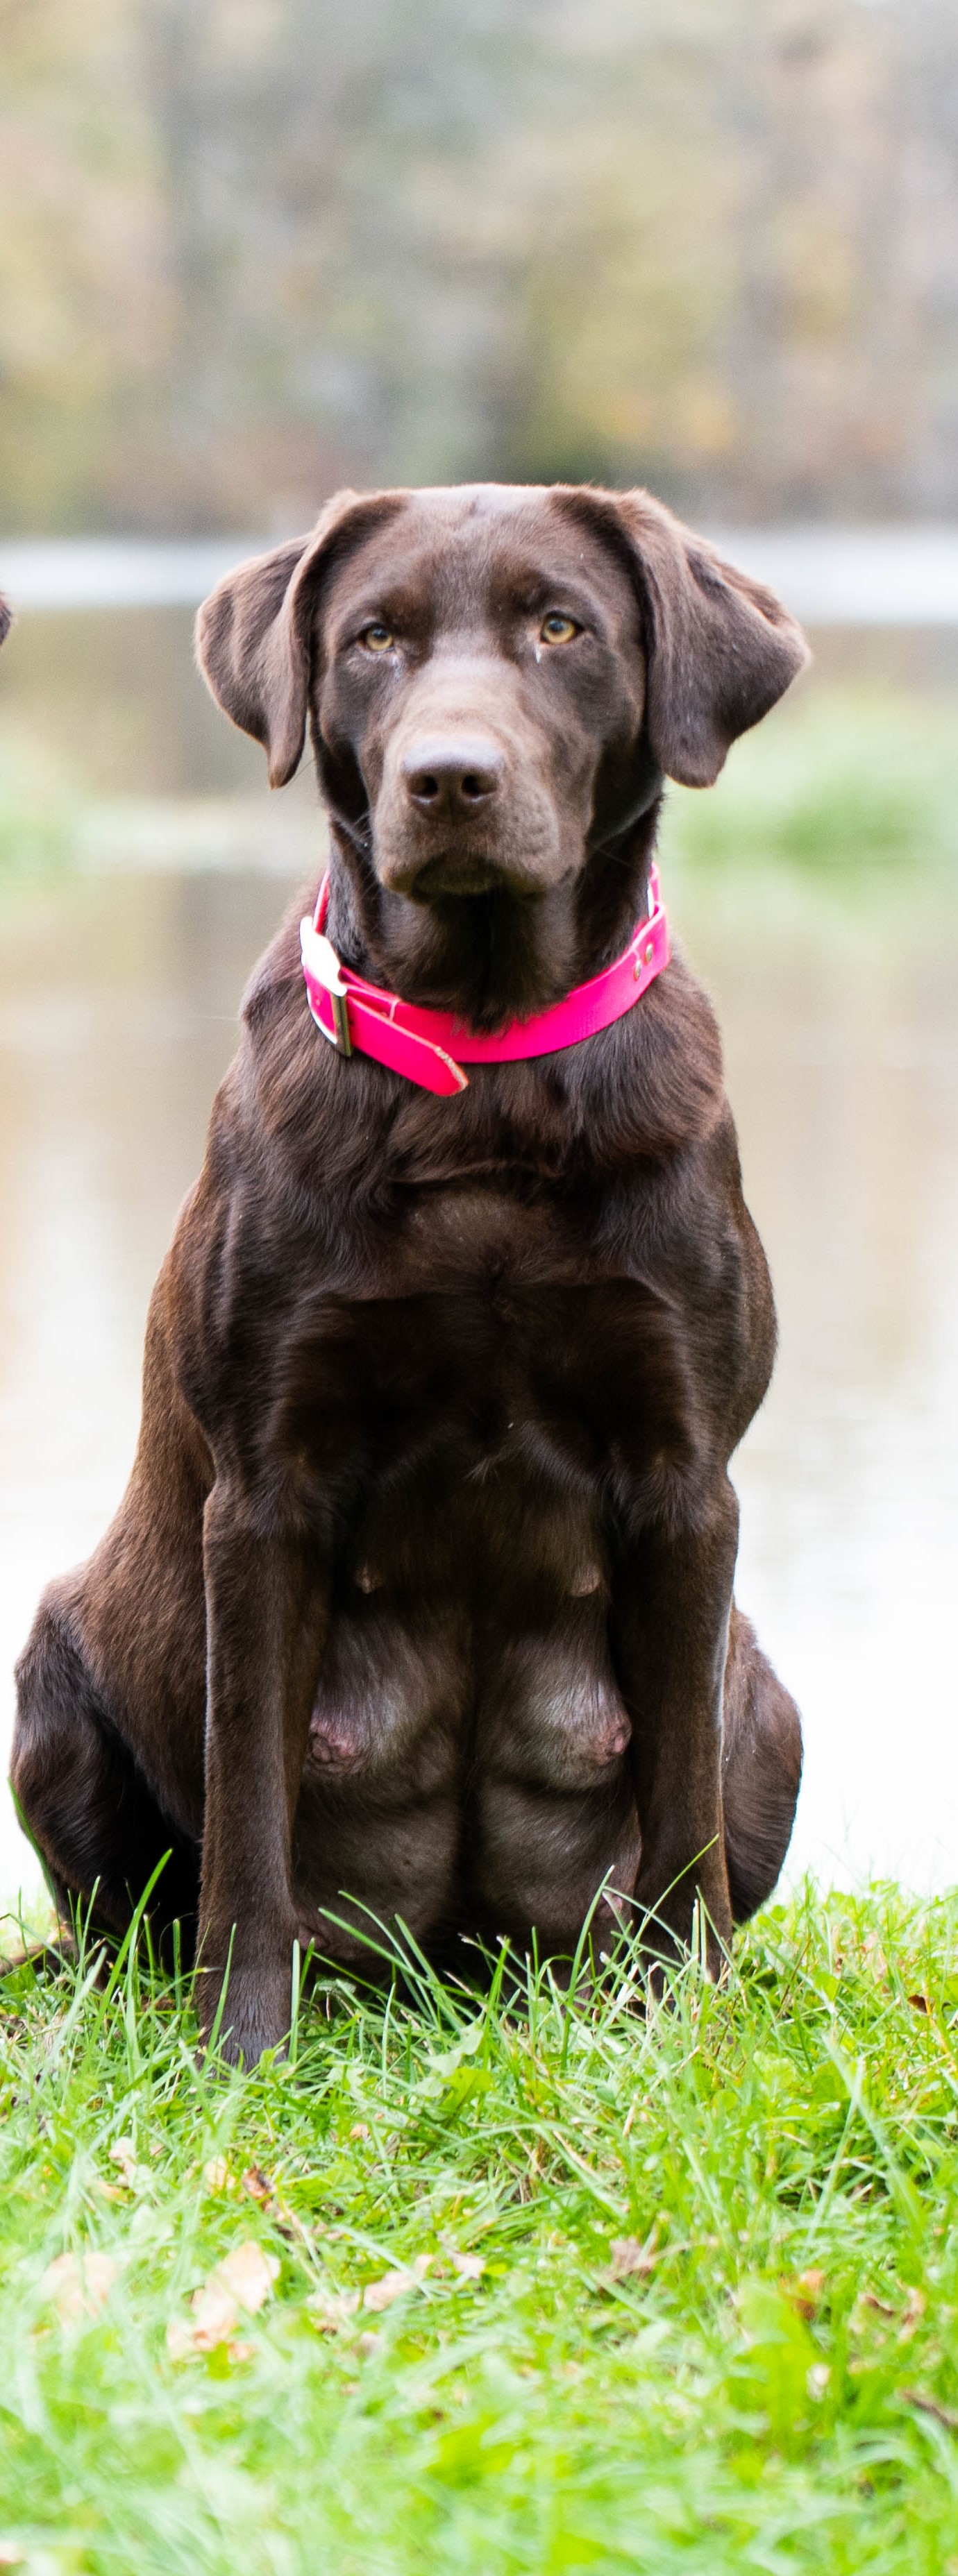
[[[126,1479],[149,1285],[245,974],[286,889],[250,868],[5,896],[0,1672]],[[721,1010],[780,1306],[737,1466],[739,1597],[806,1716],[793,1868],[955,1875],[958,904],[672,884]],[[0,1808],[0,1891],[36,1886]]]

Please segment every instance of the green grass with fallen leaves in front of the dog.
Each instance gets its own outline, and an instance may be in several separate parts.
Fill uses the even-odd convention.
[[[0,1996],[0,2566],[958,2571],[958,1901],[809,1888],[649,2020],[340,1989],[224,2081],[131,1955]]]

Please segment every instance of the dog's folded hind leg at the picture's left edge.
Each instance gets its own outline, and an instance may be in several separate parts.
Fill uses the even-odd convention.
[[[93,1924],[106,1932],[126,1932],[167,1852],[149,1917],[160,1940],[178,1919],[191,1955],[196,1844],[162,1814],[111,1726],[57,1595],[41,1602],[18,1664],[10,1788],[59,1911],[93,1901]]]

